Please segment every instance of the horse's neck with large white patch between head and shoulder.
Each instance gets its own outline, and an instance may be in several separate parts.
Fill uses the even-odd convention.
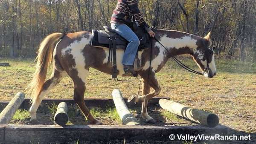
[[[169,57],[192,54],[194,49],[198,47],[196,43],[200,39],[200,37],[196,37],[195,35],[178,31],[157,30],[156,35],[159,42],[168,49],[169,54],[167,55]],[[160,43],[156,42],[155,46],[159,47],[160,50],[165,50]]]

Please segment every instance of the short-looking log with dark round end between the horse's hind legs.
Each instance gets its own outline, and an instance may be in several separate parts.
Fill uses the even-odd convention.
[[[65,126],[68,121],[68,115],[67,115],[67,104],[65,102],[61,102],[58,104],[57,111],[54,115],[54,121],[56,124],[60,126]]]

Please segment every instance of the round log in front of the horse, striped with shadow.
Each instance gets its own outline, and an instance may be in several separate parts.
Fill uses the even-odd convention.
[[[182,116],[190,121],[194,121],[207,127],[216,127],[219,123],[217,115],[204,110],[186,107],[182,104],[166,99],[160,99],[159,104],[163,109],[166,109],[175,115]]]

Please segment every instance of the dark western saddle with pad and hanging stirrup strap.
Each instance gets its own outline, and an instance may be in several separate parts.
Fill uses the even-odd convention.
[[[112,65],[112,78],[117,78],[117,68],[116,68],[116,49],[126,49],[128,41],[117,34],[114,29],[108,26],[103,26],[105,30],[95,30],[92,31],[91,46],[109,48],[110,52],[108,55],[108,62],[113,61]],[[138,51],[148,49],[150,46],[149,35],[144,31],[143,28],[138,26],[133,26],[134,33],[138,36],[140,40],[140,45]],[[113,53],[113,57],[112,57]]]

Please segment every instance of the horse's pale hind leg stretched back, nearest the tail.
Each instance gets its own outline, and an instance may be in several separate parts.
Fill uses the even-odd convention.
[[[31,118],[31,123],[37,123],[38,120],[36,118],[36,111],[43,100],[44,96],[51,90],[56,84],[58,84],[64,76],[67,75],[65,71],[59,72],[56,69],[53,70],[51,77],[44,82],[43,89],[39,93],[39,96],[35,98],[35,100],[32,102],[32,105],[29,109]]]

